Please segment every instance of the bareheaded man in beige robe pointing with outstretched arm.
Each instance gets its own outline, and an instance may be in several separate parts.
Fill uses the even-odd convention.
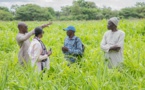
[[[49,24],[44,24],[41,27],[45,28],[49,25],[51,25],[52,23]],[[28,55],[28,48],[30,45],[30,40],[29,38],[34,35],[34,30],[28,32],[28,27],[24,22],[20,22],[18,23],[18,29],[19,29],[19,33],[16,36],[16,41],[20,47],[20,51],[18,54],[18,60],[19,63],[24,66],[25,63],[28,63],[29,61],[29,55]]]

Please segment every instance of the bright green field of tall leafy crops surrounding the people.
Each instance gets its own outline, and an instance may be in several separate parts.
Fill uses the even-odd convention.
[[[145,20],[121,20],[119,23],[118,28],[126,33],[121,71],[104,65],[100,42],[107,30],[106,20],[53,22],[50,28],[44,29],[42,39],[53,51],[51,69],[43,75],[43,80],[30,66],[23,68],[18,64],[17,23],[0,21],[0,90],[145,89]],[[26,22],[29,30],[44,23]],[[66,37],[62,29],[68,25],[76,27],[76,36],[86,47],[81,68],[77,64],[67,67],[61,51]]]

